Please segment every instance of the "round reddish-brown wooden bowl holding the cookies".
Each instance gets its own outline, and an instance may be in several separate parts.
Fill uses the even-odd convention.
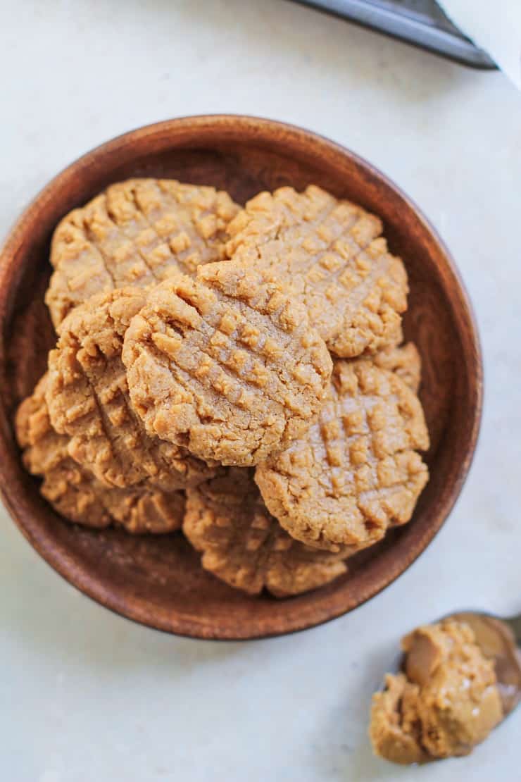
[[[423,358],[421,397],[432,447],[430,482],[412,522],[355,557],[347,576],[300,597],[247,597],[202,570],[179,534],[132,537],[64,521],[24,471],[13,413],[45,371],[54,334],[43,295],[59,219],[111,182],[167,177],[226,188],[244,203],[260,190],[311,182],[383,218],[409,272],[405,335]],[[186,117],[143,127],[89,152],[27,208],[0,256],[0,489],[49,565],[112,611],[170,633],[219,639],[290,633],[326,622],[387,587],[440,529],[466,477],[480,424],[476,325],[448,250],[419,210],[379,171],[325,138],[252,117]]]

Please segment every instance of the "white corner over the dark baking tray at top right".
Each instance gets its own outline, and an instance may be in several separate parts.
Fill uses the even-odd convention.
[[[439,0],[445,13],[521,88],[519,0]]]

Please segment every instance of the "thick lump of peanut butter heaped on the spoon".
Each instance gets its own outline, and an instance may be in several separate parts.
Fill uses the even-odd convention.
[[[402,764],[468,755],[503,716],[494,663],[463,622],[419,627],[401,647],[404,673],[387,674],[373,695],[376,755]]]

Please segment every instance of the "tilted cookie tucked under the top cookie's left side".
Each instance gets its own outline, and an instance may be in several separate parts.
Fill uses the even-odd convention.
[[[47,404],[56,431],[70,436],[70,456],[98,480],[120,488],[146,481],[173,491],[214,470],[184,448],[149,436],[130,406],[123,335],[144,303],[142,291],[117,289],[66,317],[49,353]]]

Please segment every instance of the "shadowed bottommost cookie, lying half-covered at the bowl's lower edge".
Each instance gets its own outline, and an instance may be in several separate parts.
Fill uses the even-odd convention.
[[[346,572],[336,554],[293,540],[269,515],[252,471],[230,468],[187,490],[183,531],[202,552],[202,566],[214,576],[259,594],[276,597],[322,587]]]

